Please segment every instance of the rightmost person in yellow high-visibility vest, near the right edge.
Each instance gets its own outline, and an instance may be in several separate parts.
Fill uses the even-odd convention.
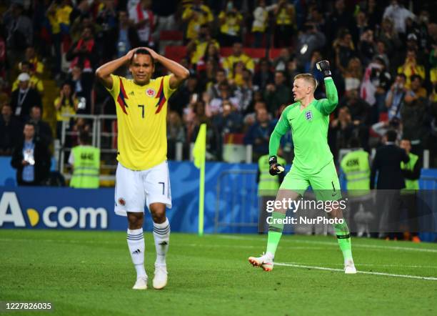
[[[418,155],[411,153],[411,141],[402,139],[400,147],[405,149],[410,161],[401,162],[405,189],[401,190],[401,202],[407,211],[408,229],[410,230],[411,241],[421,242],[418,237],[418,214],[416,209],[416,192],[419,189],[418,179],[421,177],[421,162]]]

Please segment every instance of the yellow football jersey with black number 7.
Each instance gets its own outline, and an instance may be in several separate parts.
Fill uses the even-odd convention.
[[[117,160],[132,170],[144,170],[167,159],[167,102],[175,91],[170,75],[139,86],[132,79],[111,75],[108,89],[116,103]]]

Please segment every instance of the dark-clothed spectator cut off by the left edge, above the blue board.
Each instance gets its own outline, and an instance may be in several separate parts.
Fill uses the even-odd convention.
[[[10,156],[18,144],[23,127],[12,115],[10,104],[3,104],[0,117],[0,156]]]

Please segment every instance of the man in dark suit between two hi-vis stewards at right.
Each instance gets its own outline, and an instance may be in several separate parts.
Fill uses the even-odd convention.
[[[375,187],[375,176],[378,172],[376,205],[381,211],[376,213],[378,221],[372,230],[373,233],[378,231],[380,237],[389,239],[400,236],[400,191],[405,187],[401,162],[407,163],[410,160],[406,151],[396,146],[397,136],[394,130],[386,133],[385,144],[376,150],[371,170],[371,189]]]

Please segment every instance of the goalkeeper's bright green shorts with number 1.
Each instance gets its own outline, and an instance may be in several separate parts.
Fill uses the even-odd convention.
[[[333,161],[326,164],[316,174],[301,172],[292,166],[279,189],[289,189],[303,196],[310,185],[318,201],[341,199],[340,182],[338,182],[337,170]]]

